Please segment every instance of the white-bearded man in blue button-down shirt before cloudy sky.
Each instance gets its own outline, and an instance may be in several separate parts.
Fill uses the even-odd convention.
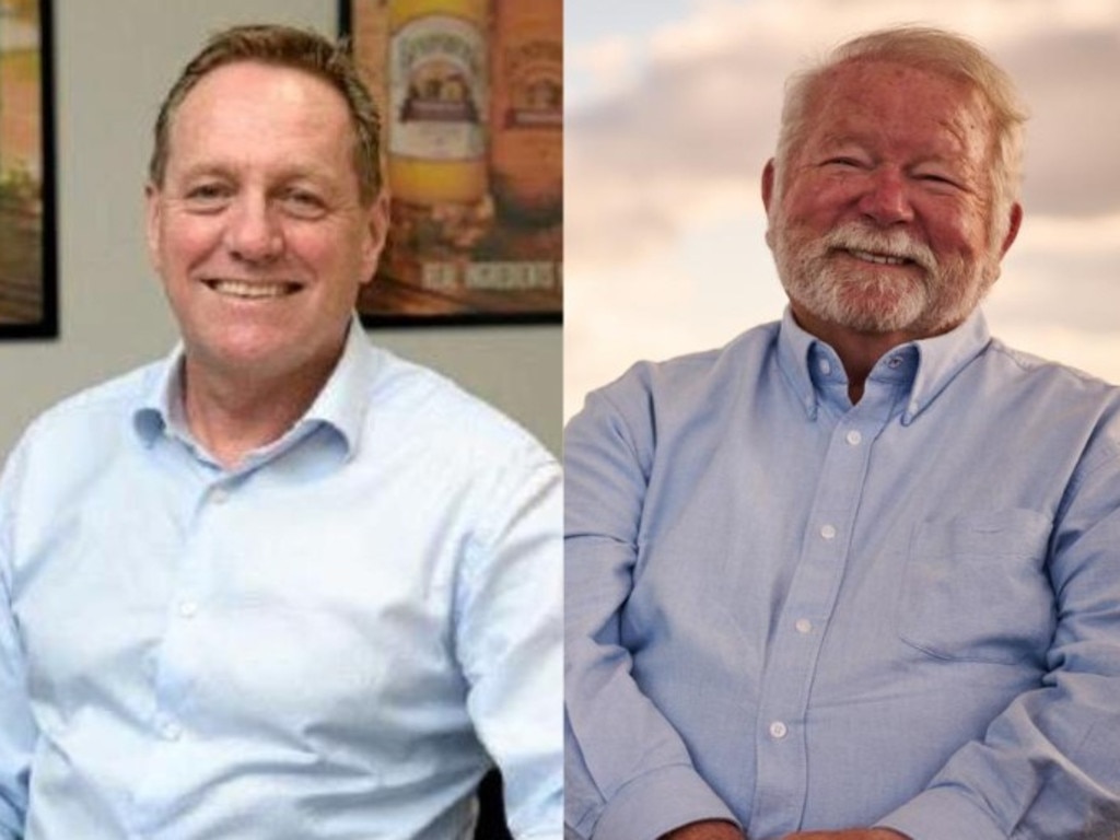
[[[959,36],[841,46],[763,174],[782,321],[569,424],[569,838],[1120,836],[1120,392],[978,309],[1025,119]]]

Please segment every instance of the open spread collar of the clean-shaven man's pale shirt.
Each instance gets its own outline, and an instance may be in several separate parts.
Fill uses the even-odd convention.
[[[152,446],[161,435],[174,436],[193,446],[183,416],[183,363],[185,351],[180,342],[149,377],[143,396],[133,412],[133,428],[146,446]],[[343,354],[315,402],[271,450],[292,437],[302,437],[310,428],[326,426],[342,439],[346,457],[353,456],[361,441],[370,382],[377,365],[366,340],[365,330],[355,314],[346,335]]]

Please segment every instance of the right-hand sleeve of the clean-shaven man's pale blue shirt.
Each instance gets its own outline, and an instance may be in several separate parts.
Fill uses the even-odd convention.
[[[511,832],[560,840],[560,468],[532,444],[491,469],[486,512],[458,585],[457,655],[475,730],[502,772]]]

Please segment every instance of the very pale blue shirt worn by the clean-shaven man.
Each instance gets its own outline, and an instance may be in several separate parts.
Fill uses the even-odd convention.
[[[236,469],[179,393],[177,354],[7,464],[0,838],[458,840],[491,757],[559,838],[556,461],[356,325]]]

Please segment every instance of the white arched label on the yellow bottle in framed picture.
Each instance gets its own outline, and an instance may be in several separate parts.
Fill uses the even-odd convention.
[[[389,151],[423,160],[485,155],[486,45],[472,24],[414,18],[390,43]]]

